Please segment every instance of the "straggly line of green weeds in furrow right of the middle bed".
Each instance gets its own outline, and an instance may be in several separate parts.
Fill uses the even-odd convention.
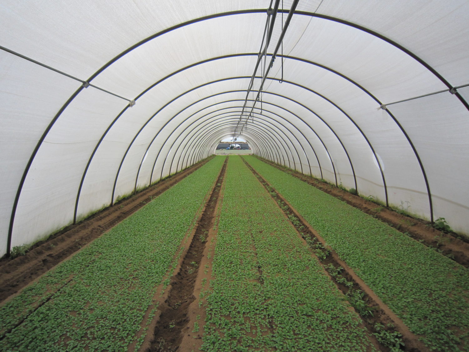
[[[294,214],[292,209],[281,200],[272,186],[267,184],[255,172],[256,177],[265,186],[269,194],[278,203],[279,207],[287,214],[288,219],[292,222],[295,229],[298,230],[300,235],[310,246],[318,259],[324,265],[326,271],[331,275],[333,281],[340,288],[340,291],[348,298],[348,302],[353,306],[358,314],[362,317],[368,329],[371,329],[372,334],[377,338],[378,342],[391,352],[402,351],[404,342],[402,341],[402,334],[395,329],[392,323],[383,324],[378,319],[374,319],[374,312],[377,306],[370,304],[369,296],[359,288],[359,285],[353,278],[344,272],[343,268],[335,262],[331,256],[331,249],[327,245],[323,245],[318,239],[307,229],[305,224]]]

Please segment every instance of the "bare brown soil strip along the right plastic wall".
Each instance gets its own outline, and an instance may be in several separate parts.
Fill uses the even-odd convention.
[[[464,237],[456,238],[455,236],[457,236],[457,234],[446,234],[432,228],[430,226],[430,222],[399,214],[390,208],[386,208],[370,200],[363,199],[362,197],[348,191],[343,191],[332,184],[327,184],[313,177],[306,176],[298,171],[284,168],[272,161],[262,158],[259,159],[286,172],[287,174],[299,178],[307,184],[310,184],[335,198],[343,200],[347,204],[362,210],[366,214],[370,214],[382,222],[386,222],[396,230],[421,241],[428,247],[435,248],[441,254],[446,255],[448,258],[461,264],[465,268],[469,268],[469,243],[465,241]]]

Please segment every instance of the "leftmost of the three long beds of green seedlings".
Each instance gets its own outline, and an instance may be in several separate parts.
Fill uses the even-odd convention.
[[[137,350],[223,161],[212,159],[7,300],[0,350]]]

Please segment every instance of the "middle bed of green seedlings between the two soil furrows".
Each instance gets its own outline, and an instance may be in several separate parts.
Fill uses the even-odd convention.
[[[204,351],[376,351],[358,314],[239,156],[230,156]],[[198,326],[194,326],[198,329]]]

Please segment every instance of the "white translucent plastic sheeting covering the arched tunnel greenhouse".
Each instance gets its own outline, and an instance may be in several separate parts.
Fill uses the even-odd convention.
[[[468,24],[466,0],[4,0],[0,255],[240,132],[257,155],[469,235]]]

